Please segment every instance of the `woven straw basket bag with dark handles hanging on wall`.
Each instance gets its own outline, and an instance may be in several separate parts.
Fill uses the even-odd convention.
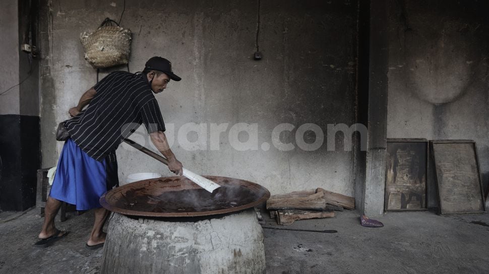
[[[112,26],[112,22],[115,26]],[[106,18],[94,32],[80,34],[85,60],[94,68],[127,64],[131,52],[131,31]]]

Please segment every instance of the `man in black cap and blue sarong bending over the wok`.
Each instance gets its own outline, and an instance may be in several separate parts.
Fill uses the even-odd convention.
[[[69,110],[73,118],[65,121],[65,127],[70,139],[59,157],[44,209],[40,240],[35,245],[48,246],[68,234],[54,226],[62,201],[76,204],[77,210],[95,209],[95,222],[86,246],[95,249],[103,245],[102,228],[108,211],[101,207],[99,199],[118,186],[115,150],[143,123],[153,144],[168,159],[168,169],[182,174],[182,165],[166,140],[165,124],[153,95],[162,92],[170,79],[181,80],[173,74],[167,59],[155,56],[146,62],[141,74],[110,73]]]

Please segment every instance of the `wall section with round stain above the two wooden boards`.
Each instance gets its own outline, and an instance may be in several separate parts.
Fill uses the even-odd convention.
[[[475,140],[485,187],[487,8],[475,1],[390,2],[387,126],[388,138]]]

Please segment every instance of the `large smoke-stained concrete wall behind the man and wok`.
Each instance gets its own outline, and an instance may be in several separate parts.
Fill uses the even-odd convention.
[[[42,165],[49,167],[62,147],[53,141],[56,124],[69,118],[69,107],[96,80],[96,71],[83,59],[80,33],[95,30],[105,17],[118,20],[123,1],[44,1],[41,9]],[[327,124],[355,122],[355,1],[261,1],[261,61],[253,60],[257,9],[257,1],[128,0],[121,26],[133,32],[131,71],[159,55],[171,60],[183,79],[157,96],[170,140],[189,122],[229,123],[219,150],[210,150],[209,136],[204,150],[188,151],[174,142],[172,150],[188,169],[251,180],[272,193],[320,186],[353,196],[356,160],[343,150],[342,134],[336,148],[327,148],[325,141],[318,150],[304,151],[295,132],[315,123],[326,140]],[[257,150],[232,148],[228,136],[236,123],[257,124]],[[272,145],[272,129],[280,123],[295,127],[280,135],[283,143],[294,145],[291,151]],[[315,142],[307,133],[306,142]],[[150,146],[143,135],[133,139]],[[238,137],[247,140],[246,134]],[[189,134],[190,141],[196,138]],[[117,158],[121,181],[136,172],[171,175],[126,146],[119,147]]]

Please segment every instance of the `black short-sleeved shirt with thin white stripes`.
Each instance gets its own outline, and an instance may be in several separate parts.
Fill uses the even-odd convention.
[[[65,122],[80,149],[97,161],[115,161],[115,150],[142,123],[148,133],[165,131],[158,102],[144,74],[113,72],[93,87],[88,107]]]

